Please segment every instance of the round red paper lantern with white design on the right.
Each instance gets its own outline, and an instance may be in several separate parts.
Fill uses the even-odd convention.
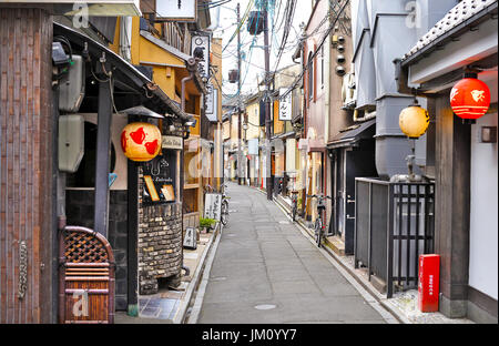
[[[465,78],[450,91],[450,106],[459,118],[475,120],[483,116],[489,105],[489,86],[479,79]]]

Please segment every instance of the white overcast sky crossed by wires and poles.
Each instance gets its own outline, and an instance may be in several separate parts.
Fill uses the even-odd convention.
[[[223,48],[227,44],[231,37],[235,32],[236,26],[236,7],[237,2],[241,4],[241,18],[243,18],[246,8],[248,6],[249,0],[232,0],[228,3],[225,3],[220,7],[220,22],[218,28],[214,32],[214,37],[223,38]],[[284,7],[286,6],[286,0],[275,0],[275,17],[274,21],[277,21],[276,26],[278,26],[284,16]],[[281,4],[281,11],[277,14],[278,7]],[[312,12],[312,1],[310,0],[297,0],[296,1],[296,10],[293,19],[293,29],[289,32],[288,44],[286,45],[285,53],[281,58],[279,69],[288,67],[293,64],[292,55],[295,51],[298,35],[301,33],[299,24],[302,22],[306,23]],[[211,10],[212,22],[215,22],[217,17],[217,8]],[[255,8],[252,9],[256,11]],[[269,21],[272,21],[269,16]],[[254,39],[246,30],[247,22],[241,29],[241,45],[242,45],[242,73],[241,80],[243,81],[242,93],[251,93],[257,90],[257,80],[262,81],[263,72],[265,71],[265,54],[263,50],[264,45],[264,34],[261,33],[253,48],[249,52],[249,47],[252,45],[252,41]],[[271,27],[272,28],[272,27]],[[275,68],[276,54],[278,45],[281,44],[283,28],[277,31],[277,33],[272,38],[272,53],[271,53],[271,71]],[[271,38],[271,31],[269,31]],[[271,39],[269,39],[271,40]],[[231,84],[228,83],[228,71],[237,69],[237,37],[231,42],[231,44],[225,49],[222,54],[223,57],[223,92],[225,94],[235,94],[237,92],[237,83]]]

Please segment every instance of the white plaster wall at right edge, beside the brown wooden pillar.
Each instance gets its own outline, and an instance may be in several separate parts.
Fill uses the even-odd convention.
[[[497,84],[497,79],[496,79]],[[497,113],[471,126],[471,205],[469,285],[498,296],[498,151],[497,142],[480,143],[481,126],[497,126]]]

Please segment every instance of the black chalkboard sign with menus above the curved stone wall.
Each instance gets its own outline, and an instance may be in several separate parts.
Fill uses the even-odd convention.
[[[142,166],[143,204],[175,202],[176,153],[164,150],[162,155],[154,157]]]

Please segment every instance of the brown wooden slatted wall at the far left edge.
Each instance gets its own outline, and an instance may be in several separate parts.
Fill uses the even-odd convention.
[[[0,323],[52,315],[52,18],[0,8]],[[20,243],[26,295],[18,297]]]

